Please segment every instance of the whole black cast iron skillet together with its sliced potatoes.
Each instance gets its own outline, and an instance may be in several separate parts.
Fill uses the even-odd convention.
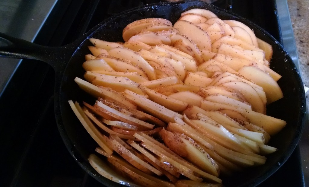
[[[60,48],[2,38],[2,55],[54,67],[61,137],[107,186],[256,186],[305,123],[303,84],[283,47],[204,2],[132,9]]]

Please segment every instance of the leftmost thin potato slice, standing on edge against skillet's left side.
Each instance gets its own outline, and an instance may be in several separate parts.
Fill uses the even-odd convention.
[[[104,140],[103,135],[100,133],[100,131],[95,127],[95,125],[83,112],[83,109],[80,107],[80,105],[77,102],[75,102],[74,104],[72,100],[69,100],[68,102],[74,114],[82,123],[90,136],[95,140],[95,142],[99,144],[100,147],[102,147],[104,151],[106,151],[108,155],[111,155],[113,153],[113,150],[111,149],[111,147],[108,146],[108,143]]]

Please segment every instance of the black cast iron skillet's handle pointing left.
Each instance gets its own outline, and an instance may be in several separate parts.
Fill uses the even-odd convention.
[[[63,67],[74,52],[72,47],[48,47],[0,32],[0,57],[34,59],[48,63],[55,70]]]

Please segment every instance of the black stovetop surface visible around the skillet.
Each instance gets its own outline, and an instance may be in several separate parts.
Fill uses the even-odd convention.
[[[68,44],[112,15],[154,2],[159,1],[58,0],[34,42]],[[252,20],[281,41],[274,1],[219,0],[214,4]],[[53,110],[54,76],[49,65],[23,60],[0,98],[0,186],[104,186],[79,167],[62,142]],[[259,186],[304,186],[303,180],[297,147]]]

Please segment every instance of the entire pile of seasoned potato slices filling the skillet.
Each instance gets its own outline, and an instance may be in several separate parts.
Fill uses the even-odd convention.
[[[286,121],[267,116],[266,104],[283,97],[281,75],[269,68],[272,46],[248,26],[191,9],[174,24],[129,23],[122,38],[89,39],[87,81],[74,80],[97,100],[83,108],[69,101],[119,173],[145,186],[220,185],[277,150],[267,143]],[[88,160],[124,181],[95,154]]]

